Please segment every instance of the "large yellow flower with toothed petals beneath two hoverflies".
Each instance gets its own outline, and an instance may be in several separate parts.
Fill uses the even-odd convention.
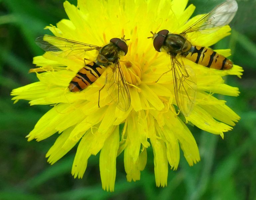
[[[79,69],[83,58],[67,59],[45,53],[34,58],[38,82],[14,89],[11,95],[29,100],[30,105],[54,105],[27,135],[28,140],[41,141],[58,132],[60,135],[47,153],[48,162],[54,164],[76,143],[78,144],[72,166],[72,175],[82,178],[88,158],[100,152],[99,167],[102,188],[114,190],[116,157],[124,151],[124,168],[127,180],[139,180],[147,162],[147,148],[153,148],[157,186],[167,185],[168,164],[178,168],[180,147],[190,166],[200,160],[195,139],[184,121],[202,130],[219,134],[232,129],[239,116],[225,101],[212,93],[238,96],[238,88],[226,85],[223,76],[240,77],[242,68],[212,70],[184,59],[196,73],[197,97],[189,117],[177,115],[174,106],[170,57],[158,53],[148,39],[150,31],[168,29],[179,33],[195,7],[186,0],[173,1],[100,1],[78,0],[78,6],[64,2],[69,20],[57,26],[47,26],[54,35],[84,43],[104,46],[113,37],[127,40],[128,53],[120,59],[121,68],[129,87],[131,106],[125,112],[117,108],[106,90],[101,91],[98,108],[98,91],[105,84],[103,74],[81,92],[69,92],[67,86]],[[186,9],[185,9],[186,8]],[[224,26],[209,34],[190,35],[194,45],[210,46],[230,34]],[[229,50],[216,50],[229,56]],[[86,52],[86,59],[95,61],[96,51]],[[111,70],[111,69],[108,69]],[[170,103],[169,103],[170,102]],[[121,129],[119,133],[119,128]]]

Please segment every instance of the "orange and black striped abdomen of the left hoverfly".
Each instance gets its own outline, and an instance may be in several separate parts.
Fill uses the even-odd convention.
[[[70,92],[78,92],[91,85],[105,71],[105,67],[91,62],[77,72],[69,83]]]

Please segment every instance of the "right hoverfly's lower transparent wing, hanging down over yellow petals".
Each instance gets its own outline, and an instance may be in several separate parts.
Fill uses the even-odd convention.
[[[189,116],[196,99],[196,78],[190,66],[182,65],[176,56],[171,56],[174,93],[177,106],[185,116]]]

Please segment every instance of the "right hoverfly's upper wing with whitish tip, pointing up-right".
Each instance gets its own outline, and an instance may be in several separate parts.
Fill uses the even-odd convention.
[[[205,14],[193,25],[184,30],[182,33],[189,33],[197,30],[210,29],[228,25],[234,18],[237,11],[235,0],[227,0],[216,6],[211,12]]]

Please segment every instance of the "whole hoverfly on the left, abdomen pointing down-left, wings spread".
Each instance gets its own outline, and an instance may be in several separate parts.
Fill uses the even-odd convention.
[[[130,106],[130,93],[119,63],[120,57],[125,56],[128,51],[124,37],[121,39],[112,38],[110,43],[103,47],[50,35],[38,37],[36,43],[46,52],[67,59],[77,59],[84,56],[86,51],[97,50],[99,53],[95,61],[85,64],[70,81],[68,86],[70,92],[84,90],[110,67],[113,74],[109,76],[108,81],[108,74],[106,75],[105,85],[108,82],[107,92],[120,110],[128,110]],[[85,60],[84,58],[84,63]],[[101,89],[99,90],[99,97]]]

